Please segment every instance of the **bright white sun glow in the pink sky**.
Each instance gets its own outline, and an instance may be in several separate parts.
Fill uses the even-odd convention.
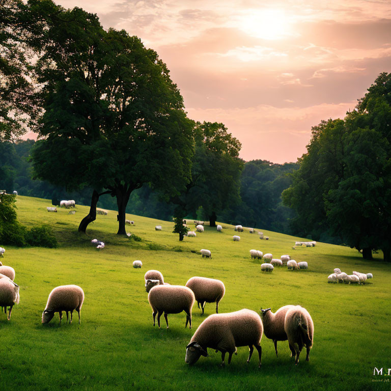
[[[283,10],[254,10],[240,17],[240,29],[247,34],[267,40],[282,39],[291,35],[290,20]]]

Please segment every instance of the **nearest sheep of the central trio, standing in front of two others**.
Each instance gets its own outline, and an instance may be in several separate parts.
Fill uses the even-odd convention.
[[[148,301],[152,308],[153,325],[157,314],[157,325],[160,328],[160,316],[164,313],[165,323],[169,328],[168,314],[186,313],[186,324],[191,328],[191,309],[195,301],[190,288],[181,285],[157,285],[148,293]]]

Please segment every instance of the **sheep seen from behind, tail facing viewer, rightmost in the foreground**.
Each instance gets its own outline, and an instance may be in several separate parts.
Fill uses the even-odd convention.
[[[295,365],[299,362],[301,349],[305,346],[306,361],[310,360],[310,350],[314,344],[314,322],[305,308],[296,305],[285,315],[284,329],[287,333],[291,357],[296,356]]]

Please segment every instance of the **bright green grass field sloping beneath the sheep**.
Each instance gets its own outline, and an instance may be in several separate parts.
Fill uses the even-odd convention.
[[[89,237],[79,237],[78,222],[87,207],[77,206],[76,214],[68,215],[65,209],[48,213],[46,206],[50,201],[17,197],[19,221],[49,224],[58,248],[4,246],[2,262],[16,271],[20,304],[14,306],[11,321],[0,314],[0,390],[391,389],[386,381],[391,376],[373,376],[374,367],[383,367],[385,373],[391,368],[391,266],[381,261],[381,254],[365,261],[356,250],[324,243],[292,250],[297,238],[268,231],[263,232],[269,241],[247,231],[239,234],[240,242],[233,242],[233,227],[224,224],[222,233],[205,227],[205,233],[179,242],[172,222],[127,215],[135,222],[128,230],[143,239],[134,242],[115,235],[114,211],[98,215]],[[158,223],[161,232],[154,230]],[[90,244],[95,237],[106,243],[105,249]],[[201,248],[210,249],[212,259],[195,253]],[[262,273],[260,261],[250,260],[252,248],[275,258],[290,254],[307,261],[309,270]],[[133,269],[136,259],[143,262],[142,269]],[[374,278],[365,286],[327,284],[334,267],[372,272]],[[302,352],[295,367],[287,342],[278,343],[276,358],[272,341],[263,336],[261,369],[256,353],[246,364],[246,347],[238,348],[225,368],[220,367],[220,353],[211,349],[211,357],[187,366],[186,345],[215,306],[206,304],[201,316],[196,303],[191,330],[184,328],[184,313],[169,315],[169,329],[163,317],[163,327],[153,327],[144,288],[149,269],[160,270],[166,282],[177,285],[194,275],[223,281],[220,312],[304,306],[315,324],[310,361]],[[66,284],[80,285],[85,292],[81,325],[77,314],[71,325],[59,327],[58,314],[42,325],[48,294]]]

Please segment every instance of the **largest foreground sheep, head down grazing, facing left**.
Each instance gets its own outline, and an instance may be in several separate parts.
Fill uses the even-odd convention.
[[[208,316],[191,337],[186,346],[186,364],[194,364],[201,355],[208,356],[208,348],[221,352],[221,366],[228,352],[228,364],[237,347],[248,346],[249,362],[254,347],[258,350],[259,366],[261,367],[262,348],[260,346],[263,325],[260,316],[252,310],[240,310],[228,314],[213,314]]]

